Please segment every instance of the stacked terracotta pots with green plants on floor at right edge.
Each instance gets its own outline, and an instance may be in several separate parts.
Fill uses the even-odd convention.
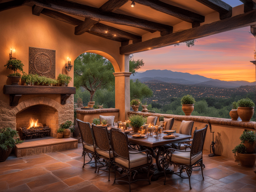
[[[244,131],[240,136],[241,143],[232,152],[236,155],[242,166],[254,167],[256,154],[256,133],[255,131]]]

